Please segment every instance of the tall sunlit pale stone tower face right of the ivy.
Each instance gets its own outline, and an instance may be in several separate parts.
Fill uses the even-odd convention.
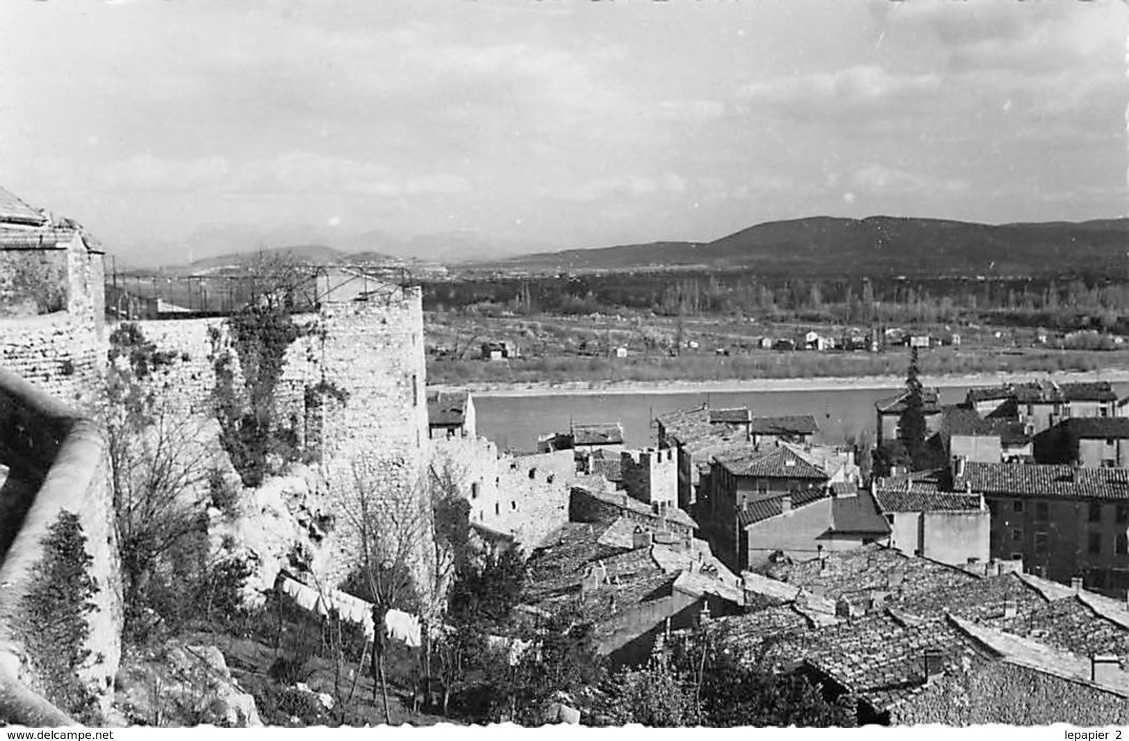
[[[310,339],[320,377],[349,394],[322,416],[322,473],[338,513],[340,549],[331,581],[359,563],[359,521],[380,523],[386,546],[412,544],[418,585],[431,583],[430,498],[425,479],[430,452],[419,288],[388,286],[360,299],[325,305]]]

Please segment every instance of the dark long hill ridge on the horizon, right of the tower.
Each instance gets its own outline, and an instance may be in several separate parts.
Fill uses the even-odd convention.
[[[523,271],[754,269],[795,276],[1129,274],[1129,219],[998,226],[925,218],[811,217],[714,242],[654,242],[478,263]]]

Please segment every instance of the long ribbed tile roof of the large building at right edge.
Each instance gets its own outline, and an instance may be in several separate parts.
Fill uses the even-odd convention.
[[[978,494],[1060,499],[1129,499],[1129,469],[1017,463],[964,464],[954,489]]]

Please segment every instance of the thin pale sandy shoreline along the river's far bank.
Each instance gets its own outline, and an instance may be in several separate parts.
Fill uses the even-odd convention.
[[[1001,383],[1051,378],[1059,383],[1109,381],[1129,383],[1129,369],[1094,370],[1091,373],[984,373],[955,376],[922,376],[926,386],[989,386]],[[749,378],[744,381],[625,381],[567,383],[470,383],[461,386],[436,385],[432,389],[469,389],[476,396],[583,396],[623,394],[742,393],[771,391],[860,391],[900,389],[903,376],[855,376],[817,378]]]

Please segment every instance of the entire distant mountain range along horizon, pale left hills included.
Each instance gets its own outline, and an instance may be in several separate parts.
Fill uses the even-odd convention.
[[[502,272],[590,272],[648,269],[755,270],[764,274],[1036,277],[1129,276],[1129,219],[988,225],[944,219],[872,216],[864,219],[808,217],[768,221],[712,242],[653,242],[484,259],[476,235],[450,233],[404,242],[360,237],[265,250],[314,264],[377,263]],[[387,252],[361,252],[383,244]],[[419,250],[413,251],[412,244]],[[207,274],[238,270],[255,252],[238,252],[165,268]],[[478,258],[475,260],[475,258]]]

